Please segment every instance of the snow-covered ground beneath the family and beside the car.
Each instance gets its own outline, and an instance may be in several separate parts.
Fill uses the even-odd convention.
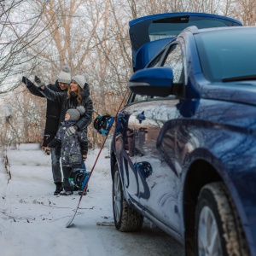
[[[90,170],[99,149],[90,150]],[[10,255],[183,255],[183,250],[147,220],[138,233],[115,230],[108,148],[96,164],[89,192],[83,197],[73,226],[66,228],[79,195],[53,195],[50,157],[38,144],[8,150],[9,171],[0,165],[0,254]],[[76,193],[76,192],[75,192]]]

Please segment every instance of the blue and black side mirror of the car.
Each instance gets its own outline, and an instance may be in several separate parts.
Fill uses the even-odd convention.
[[[132,92],[145,96],[169,96],[172,91],[173,73],[171,67],[149,67],[131,76],[129,86]]]

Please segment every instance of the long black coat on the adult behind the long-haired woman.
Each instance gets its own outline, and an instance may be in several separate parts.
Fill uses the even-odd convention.
[[[29,79],[25,77],[22,78],[22,82],[26,84],[26,88],[32,93],[34,96],[45,97],[41,90],[32,83]],[[65,90],[61,90],[58,81],[55,84],[48,84],[46,85],[47,88],[50,90],[54,90],[56,92],[63,92]],[[46,147],[51,140],[55,137],[59,125],[60,125],[60,116],[61,116],[61,104],[59,102],[53,102],[47,99],[47,106],[46,106],[46,123],[44,128],[44,141],[43,147]]]

